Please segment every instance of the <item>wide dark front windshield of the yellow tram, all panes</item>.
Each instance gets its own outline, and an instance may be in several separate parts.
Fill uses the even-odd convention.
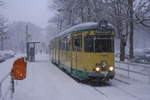
[[[85,52],[113,52],[114,39],[112,36],[86,36]]]

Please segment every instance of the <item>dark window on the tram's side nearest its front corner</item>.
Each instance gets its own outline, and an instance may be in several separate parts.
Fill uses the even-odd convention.
[[[82,36],[74,37],[73,51],[82,50]]]

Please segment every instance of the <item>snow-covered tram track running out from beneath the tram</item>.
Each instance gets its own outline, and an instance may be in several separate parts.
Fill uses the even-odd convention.
[[[58,67],[59,68],[59,67]],[[61,69],[62,70],[62,69]],[[63,70],[63,72],[65,72],[66,73],[66,71],[64,71]],[[70,75],[69,75],[70,76]],[[72,77],[72,76],[70,76],[70,77]],[[75,81],[77,81],[77,82],[79,82],[82,86],[84,86],[85,84],[84,83],[82,83],[82,82],[80,82],[79,80],[77,80],[76,78],[74,78],[74,77],[72,77]],[[124,80],[121,80],[121,79],[118,79],[118,78],[114,78],[114,81],[116,81],[116,82],[119,82],[119,83],[121,83],[121,84],[124,84],[124,85],[130,85],[130,83],[129,82],[127,82],[127,81],[124,81]],[[132,94],[132,93],[130,93],[130,92],[128,92],[127,90],[125,90],[125,89],[123,89],[123,88],[121,88],[121,87],[119,87],[119,86],[116,86],[116,85],[114,85],[113,83],[111,83],[110,81],[108,81],[108,82],[102,82],[101,84],[90,84],[90,83],[86,83],[86,85],[88,85],[88,86],[90,86],[92,89],[94,89],[94,91],[96,91],[98,94],[100,94],[100,95],[102,95],[102,96],[104,96],[106,99],[108,99],[108,100],[111,100],[111,96],[110,96],[110,94],[111,94],[111,92],[113,93],[113,91],[117,91],[118,93],[121,93],[121,94],[123,94],[124,96],[129,96],[129,97],[131,97],[131,98],[135,98],[135,99],[133,99],[133,100],[142,100],[142,99],[140,99],[139,97],[137,97],[136,95],[134,95],[134,94]],[[103,89],[101,89],[102,87],[107,87],[108,86],[108,90],[105,90],[104,88]],[[109,91],[108,93],[106,92],[106,91]],[[112,95],[112,94],[111,94]]]

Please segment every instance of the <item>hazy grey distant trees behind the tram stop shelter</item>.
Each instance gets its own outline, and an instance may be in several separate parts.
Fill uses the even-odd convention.
[[[29,41],[39,42],[42,29],[29,22],[13,22],[8,25],[9,40],[6,41],[6,48],[16,52],[26,51],[26,25],[28,25]]]

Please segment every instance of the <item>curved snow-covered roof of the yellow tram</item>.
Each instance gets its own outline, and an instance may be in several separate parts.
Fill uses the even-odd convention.
[[[55,37],[65,35],[65,34],[70,34],[70,33],[73,33],[73,32],[92,30],[92,29],[100,29],[100,28],[101,28],[101,26],[97,22],[81,23],[81,24],[75,25],[73,27],[70,27],[70,28],[66,29],[65,31],[63,31],[63,32],[60,32]],[[107,29],[113,29],[113,26],[108,23],[107,24]],[[55,37],[53,37],[53,38],[55,38]]]

